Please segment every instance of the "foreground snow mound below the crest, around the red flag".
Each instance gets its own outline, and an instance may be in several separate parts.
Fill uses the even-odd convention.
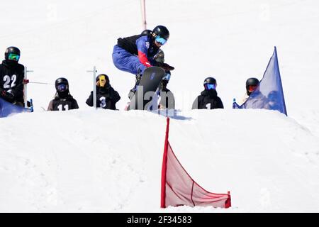
[[[230,190],[233,208],[159,209],[166,119],[79,110],[0,118],[0,211],[318,211],[318,139],[293,119],[231,109],[171,121],[181,164],[208,191]]]

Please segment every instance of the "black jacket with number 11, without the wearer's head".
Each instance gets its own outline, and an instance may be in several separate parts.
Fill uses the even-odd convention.
[[[58,93],[55,94],[55,99],[51,100],[47,107],[47,111],[68,111],[70,109],[79,109],[79,105],[69,93],[65,97],[60,97]]]

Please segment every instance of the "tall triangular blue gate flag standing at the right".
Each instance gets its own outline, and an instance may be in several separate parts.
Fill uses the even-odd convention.
[[[241,106],[234,103],[233,109],[271,109],[287,115],[276,47],[257,89]]]

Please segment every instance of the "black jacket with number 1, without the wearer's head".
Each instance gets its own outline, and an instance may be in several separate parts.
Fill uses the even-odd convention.
[[[195,99],[191,109],[224,109],[224,106],[216,90],[204,90]]]

